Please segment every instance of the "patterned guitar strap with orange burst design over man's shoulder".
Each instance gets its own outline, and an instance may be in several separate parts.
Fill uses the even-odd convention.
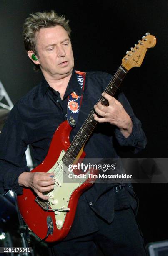
[[[84,91],[86,73],[75,71],[77,74],[80,88]],[[82,104],[83,95],[78,96],[76,92],[71,93],[67,98],[67,120],[70,126],[75,127],[78,121],[80,106]]]

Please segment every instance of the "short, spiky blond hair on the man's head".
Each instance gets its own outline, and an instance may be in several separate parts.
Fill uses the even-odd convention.
[[[62,26],[70,37],[69,20],[65,20],[65,16],[58,15],[55,11],[50,12],[37,12],[31,13],[28,18],[25,19],[23,24],[23,40],[26,51],[33,51],[38,55],[36,50],[36,38],[40,28],[49,28],[56,25]],[[40,69],[39,65],[35,65],[35,70]]]

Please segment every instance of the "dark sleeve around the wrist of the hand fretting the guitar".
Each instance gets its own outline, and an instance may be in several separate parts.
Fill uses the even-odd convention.
[[[123,92],[118,95],[118,101],[120,101],[128,115],[130,115],[130,118],[133,122],[133,130],[132,133],[127,138],[125,138],[125,136],[123,136],[123,134],[120,132],[120,129],[116,128],[115,137],[121,146],[129,146],[131,147],[133,153],[138,153],[138,151],[145,148],[147,143],[141,122],[134,115],[133,109],[131,108],[130,103],[128,102]]]

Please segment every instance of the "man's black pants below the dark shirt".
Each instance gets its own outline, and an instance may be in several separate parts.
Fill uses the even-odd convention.
[[[96,215],[95,218],[99,231],[57,243],[49,248],[50,255],[98,256],[99,247],[105,256],[146,256],[143,236],[131,207],[115,211],[111,224]]]

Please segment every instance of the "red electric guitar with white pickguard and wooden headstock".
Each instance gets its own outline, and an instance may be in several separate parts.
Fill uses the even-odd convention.
[[[132,67],[140,67],[147,48],[154,47],[155,44],[155,36],[146,33],[146,36],[143,36],[142,40],[139,40],[138,44],[135,44],[135,47],[131,48],[122,59],[122,65],[105,92],[113,96],[128,70]],[[103,97],[98,101],[108,105],[108,101]],[[55,173],[55,187],[47,194],[49,200],[40,199],[29,188],[24,188],[23,195],[17,197],[20,213],[26,225],[40,239],[45,238],[46,242],[60,241],[65,238],[72,226],[80,195],[93,184],[93,179],[88,177],[88,173],[92,174],[92,170],[86,172],[86,178],[79,183],[63,182],[63,177],[68,175],[66,166],[85,157],[84,145],[97,123],[93,113],[94,110],[90,112],[72,143],[69,141],[72,128],[67,121],[61,123],[54,133],[45,160],[31,171]]]

